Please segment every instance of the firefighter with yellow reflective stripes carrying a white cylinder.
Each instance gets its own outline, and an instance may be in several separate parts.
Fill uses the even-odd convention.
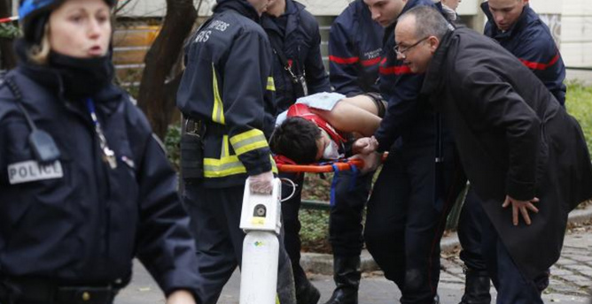
[[[267,142],[275,113],[272,53],[258,24],[267,4],[218,0],[214,15],[185,49],[177,106],[189,118],[181,147],[183,200],[198,247],[201,304],[214,304],[240,265],[245,179],[250,179],[251,191],[268,193],[277,172]],[[277,284],[280,302],[294,303],[284,247]]]

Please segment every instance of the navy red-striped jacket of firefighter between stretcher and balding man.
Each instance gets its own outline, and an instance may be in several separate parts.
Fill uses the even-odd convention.
[[[432,0],[409,0],[401,14],[419,6],[431,6],[441,11],[441,4]],[[419,94],[424,74],[416,74],[397,59],[393,48],[396,22],[386,27],[383,59],[379,67],[380,94],[388,103],[386,115],[374,136],[378,140],[378,151],[387,151],[401,138],[406,147],[433,145],[435,141],[451,142],[445,128],[438,130],[438,119],[427,98]]]

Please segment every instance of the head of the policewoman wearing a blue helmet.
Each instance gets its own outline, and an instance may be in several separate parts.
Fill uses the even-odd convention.
[[[111,7],[115,0],[21,0],[19,18],[29,57],[39,64],[50,51],[104,57],[111,42]]]

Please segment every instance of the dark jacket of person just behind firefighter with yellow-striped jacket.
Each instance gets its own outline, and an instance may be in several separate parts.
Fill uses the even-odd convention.
[[[268,34],[274,52],[280,49],[294,75],[303,75],[308,94],[331,92],[329,77],[321,57],[321,34],[315,17],[305,6],[292,0],[285,0],[284,16],[279,18],[263,14],[261,27]],[[284,19],[284,20],[281,20]],[[280,22],[285,22],[281,24]],[[290,72],[277,54],[273,54],[273,78],[276,86],[276,114],[287,110],[296,99],[302,97]]]

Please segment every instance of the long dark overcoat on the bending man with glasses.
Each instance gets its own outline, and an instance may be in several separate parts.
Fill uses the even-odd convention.
[[[446,34],[422,93],[451,128],[471,186],[527,276],[557,261],[567,213],[592,197],[592,164],[578,122],[533,72],[471,29]],[[538,197],[533,224],[514,226],[506,195]]]

